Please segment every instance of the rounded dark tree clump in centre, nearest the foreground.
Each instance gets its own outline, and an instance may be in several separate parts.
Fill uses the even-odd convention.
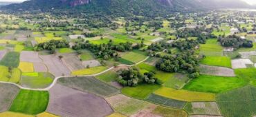
[[[161,85],[161,80],[154,77],[154,73],[146,72],[140,74],[140,71],[136,67],[131,67],[128,70],[118,71],[118,83],[122,86],[136,87],[140,83],[158,84]]]

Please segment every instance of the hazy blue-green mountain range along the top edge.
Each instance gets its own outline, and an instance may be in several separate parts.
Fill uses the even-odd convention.
[[[30,0],[4,6],[2,10],[80,10],[122,14],[132,12],[173,12],[219,8],[252,8],[241,0]]]

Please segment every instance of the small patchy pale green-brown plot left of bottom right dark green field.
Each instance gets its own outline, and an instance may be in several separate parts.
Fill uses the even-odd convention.
[[[219,107],[215,102],[188,103],[185,110],[191,115],[221,115]]]

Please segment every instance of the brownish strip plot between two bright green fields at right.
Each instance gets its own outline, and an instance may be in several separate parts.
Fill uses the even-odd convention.
[[[214,76],[235,76],[234,70],[227,67],[200,65],[200,73]]]

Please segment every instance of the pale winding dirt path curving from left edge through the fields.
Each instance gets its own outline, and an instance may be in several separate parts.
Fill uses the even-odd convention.
[[[163,50],[163,52],[165,52],[165,50]],[[162,52],[158,52],[156,54],[160,54]],[[147,59],[149,58],[150,56],[147,56],[147,58],[145,58],[143,61],[140,61],[136,64],[133,64],[133,65],[125,65],[125,64],[121,64],[121,65],[118,65],[118,66],[127,66],[127,67],[132,67],[132,66],[135,66],[135,65],[138,65],[140,63],[143,63],[144,61],[147,61]],[[110,67],[109,69],[107,70],[104,70],[100,73],[97,73],[97,74],[92,74],[92,75],[82,75],[84,77],[86,76],[98,76],[100,74],[104,74],[105,72],[109,72],[110,70],[112,70],[114,67]],[[17,87],[21,88],[21,89],[29,89],[29,90],[34,90],[34,91],[48,91],[49,89],[51,89],[56,83],[57,83],[57,80],[59,78],[66,78],[66,77],[76,77],[76,76],[58,76],[56,77],[54,80],[53,80],[53,83],[51,83],[51,85],[49,85],[48,87],[44,88],[44,89],[34,89],[34,88],[28,88],[28,87],[22,87],[21,85],[18,85],[16,83],[9,83],[9,82],[3,82],[3,81],[0,81],[0,83],[8,83],[8,84],[12,84],[12,85],[16,85]]]

